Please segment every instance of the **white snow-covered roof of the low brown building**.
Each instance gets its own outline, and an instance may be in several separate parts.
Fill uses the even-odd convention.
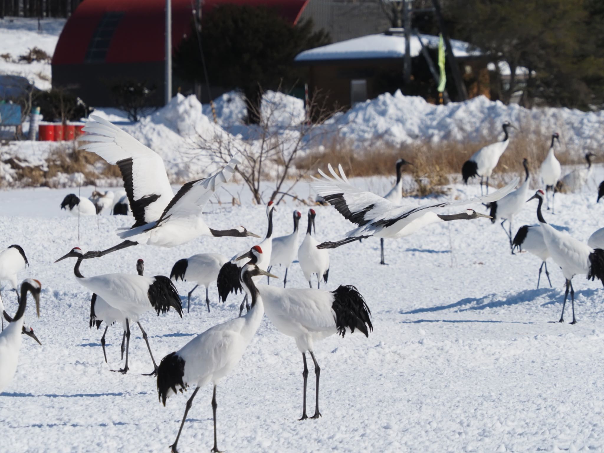
[[[423,45],[437,48],[439,37],[430,34],[420,34]],[[480,50],[472,49],[467,42],[451,40],[455,57],[477,56]],[[411,36],[411,57],[417,57],[422,51],[422,44],[417,36]],[[297,62],[312,62],[321,60],[360,60],[378,58],[400,58],[405,56],[405,36],[391,34],[368,34],[354,39],[336,42],[323,47],[305,50],[295,57]]]

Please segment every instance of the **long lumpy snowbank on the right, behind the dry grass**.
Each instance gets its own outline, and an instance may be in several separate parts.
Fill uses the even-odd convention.
[[[566,108],[525,109],[518,104],[506,106],[479,96],[465,102],[434,105],[421,97],[405,96],[400,91],[379,95],[357,104],[345,114],[327,121],[326,127],[338,127],[342,137],[359,147],[376,139],[399,146],[416,141],[493,140],[501,124],[509,120],[521,132],[549,136],[560,133],[563,143],[582,152],[604,144],[600,133],[604,112],[582,112]],[[512,132],[513,133],[513,132]]]

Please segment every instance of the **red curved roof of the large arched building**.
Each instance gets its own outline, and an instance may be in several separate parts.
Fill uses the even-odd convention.
[[[308,0],[204,0],[202,11],[219,4],[268,6],[295,24]],[[196,0],[172,0],[172,46],[190,31]],[[83,63],[106,13],[123,12],[104,56],[106,63],[155,62],[164,59],[165,0],[86,0],[68,19],[54,50],[53,65]]]

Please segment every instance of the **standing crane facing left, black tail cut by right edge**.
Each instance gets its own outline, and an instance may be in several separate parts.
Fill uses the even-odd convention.
[[[543,205],[544,192],[538,190],[535,195],[528,199],[538,199],[537,219],[541,224],[543,239],[547,249],[550,251],[551,258],[561,267],[562,274],[566,278],[566,292],[564,293],[564,303],[562,304],[562,315],[560,323],[564,323],[564,307],[568,298],[568,290],[570,289],[571,303],[573,305],[573,322],[577,320],[574,317],[574,289],[573,277],[577,274],[586,274],[588,280],[598,278],[604,284],[604,250],[600,248],[593,249],[587,244],[574,239],[568,234],[561,233],[549,225],[541,213]]]

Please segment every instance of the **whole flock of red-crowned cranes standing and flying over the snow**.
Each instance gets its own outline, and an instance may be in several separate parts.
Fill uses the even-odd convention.
[[[598,278],[604,283],[604,228],[596,231],[588,244],[583,244],[567,234],[562,234],[549,225],[543,217],[541,208],[544,196],[553,192],[551,209],[553,213],[553,197],[556,191],[571,190],[577,185],[585,184],[591,175],[591,157],[586,155],[587,169],[576,170],[561,178],[561,165],[554,155],[554,143],[559,139],[557,133],[551,138],[551,146],[547,157],[542,162],[540,173],[546,191],[538,190],[529,198],[530,173],[527,159],[522,164],[525,169],[524,182],[519,188],[519,178],[510,184],[489,194],[489,177],[506,150],[510,137],[510,123],[503,124],[505,137],[503,141],[483,147],[465,162],[462,176],[466,182],[472,176],[480,176],[481,196],[423,205],[416,208],[403,206],[402,169],[404,165],[412,165],[405,159],[396,162],[396,184],[384,196],[359,190],[350,184],[341,166],[338,171],[328,165],[329,175],[318,170],[320,178],[314,178],[313,188],[324,201],[331,204],[344,219],[355,224],[344,238],[330,242],[320,242],[316,239],[316,211],[307,212],[306,234],[301,244],[300,220],[302,214],[293,212],[294,229],[291,234],[273,237],[274,214],[277,211],[273,202],[266,205],[266,234],[264,237],[251,233],[243,226],[228,230],[216,230],[205,223],[202,210],[220,185],[232,178],[235,167],[241,164],[240,156],[235,155],[222,169],[208,178],[190,181],[173,194],[164,163],[153,150],[141,144],[109,121],[99,117],[91,117],[86,123],[82,140],[82,149],[97,153],[110,164],[118,165],[124,190],[121,192],[95,191],[91,199],[80,198],[69,194],[61,204],[61,208],[77,216],[95,215],[101,212],[111,214],[131,214],[134,223],[130,228],[120,230],[118,236],[123,242],[103,251],[83,251],[79,247],[72,248],[56,263],[66,259],[74,259],[74,276],[79,284],[92,295],[90,301],[89,327],[100,329],[105,323],[101,346],[104,361],[107,362],[105,350],[105,335],[114,323],[121,324],[123,329],[121,342],[121,360],[126,358],[121,373],[127,373],[130,342],[130,326],[136,323],[146,342],[153,371],[149,375],[156,376],[156,389],[160,402],[165,406],[167,398],[194,386],[193,393],[185,405],[184,416],[171,445],[172,451],[177,451],[178,441],[187,420],[194,397],[201,387],[213,385],[211,402],[214,422],[213,452],[217,452],[217,385],[223,377],[228,376],[245,353],[255,333],[259,329],[264,314],[278,332],[294,338],[303,359],[303,406],[300,420],[318,419],[319,385],[321,367],[315,356],[315,342],[335,333],[344,337],[346,333],[356,330],[368,337],[373,330],[371,311],[364,296],[355,286],[339,284],[335,291],[321,289],[321,281],[327,283],[330,269],[329,249],[347,243],[366,239],[371,236],[381,240],[381,264],[384,259],[384,239],[399,238],[417,233],[432,223],[449,222],[452,220],[472,220],[486,217],[496,222],[501,220],[501,226],[509,238],[512,253],[515,249],[526,250],[541,259],[539,281],[542,268],[548,281],[551,280],[547,270],[548,259],[562,268],[565,277],[565,297],[560,322],[564,321],[564,308],[570,292],[574,316],[574,275],[584,274],[588,278]],[[486,194],[483,184],[486,178]],[[603,182],[604,185],[604,182]],[[602,185],[600,191],[604,191]],[[599,194],[599,197],[602,194]],[[524,225],[513,236],[512,220],[528,201],[538,199],[537,225]],[[487,204],[490,214],[482,214],[475,210],[464,208],[458,213],[443,213],[445,207],[465,207],[469,204]],[[509,226],[506,230],[504,222]],[[142,259],[136,263],[136,274],[115,272],[85,277],[80,267],[85,260],[98,259],[103,255],[117,252],[120,249],[138,244],[174,247],[189,242],[198,236],[210,237],[255,237],[259,242],[229,259],[220,253],[201,253],[178,260],[172,267],[170,277],[144,275]],[[309,288],[288,288],[288,271],[295,259],[298,259],[304,279]],[[0,281],[8,281],[18,299],[18,310],[14,317],[8,315],[0,297],[0,310],[3,323],[0,333],[0,391],[10,385],[13,379],[19,349],[21,333],[25,333],[36,341],[37,337],[31,327],[24,324],[24,312],[27,295],[31,294],[36,301],[36,312],[39,315],[39,295],[41,284],[37,280],[26,279],[18,286],[18,274],[25,271],[28,265],[24,250],[19,245],[11,245],[0,252]],[[269,284],[271,278],[278,279],[271,273],[275,266],[284,270],[283,287],[281,284]],[[264,278],[267,284],[264,284]],[[316,278],[316,288],[313,279]],[[161,359],[159,365],[153,358],[149,337],[140,323],[140,317],[148,311],[157,315],[169,313],[172,309],[182,318],[184,309],[181,297],[174,284],[175,281],[191,281],[195,286],[188,293],[187,313],[190,310],[191,295],[199,285],[205,287],[205,303],[210,311],[208,286],[216,282],[220,299],[224,302],[231,293],[239,291],[245,294],[239,316],[210,327],[205,332],[195,336],[184,344],[178,351],[169,353]],[[247,312],[243,314],[243,307]],[[315,411],[307,415],[306,395],[307,377],[309,374],[307,354],[312,359],[315,370]]]

